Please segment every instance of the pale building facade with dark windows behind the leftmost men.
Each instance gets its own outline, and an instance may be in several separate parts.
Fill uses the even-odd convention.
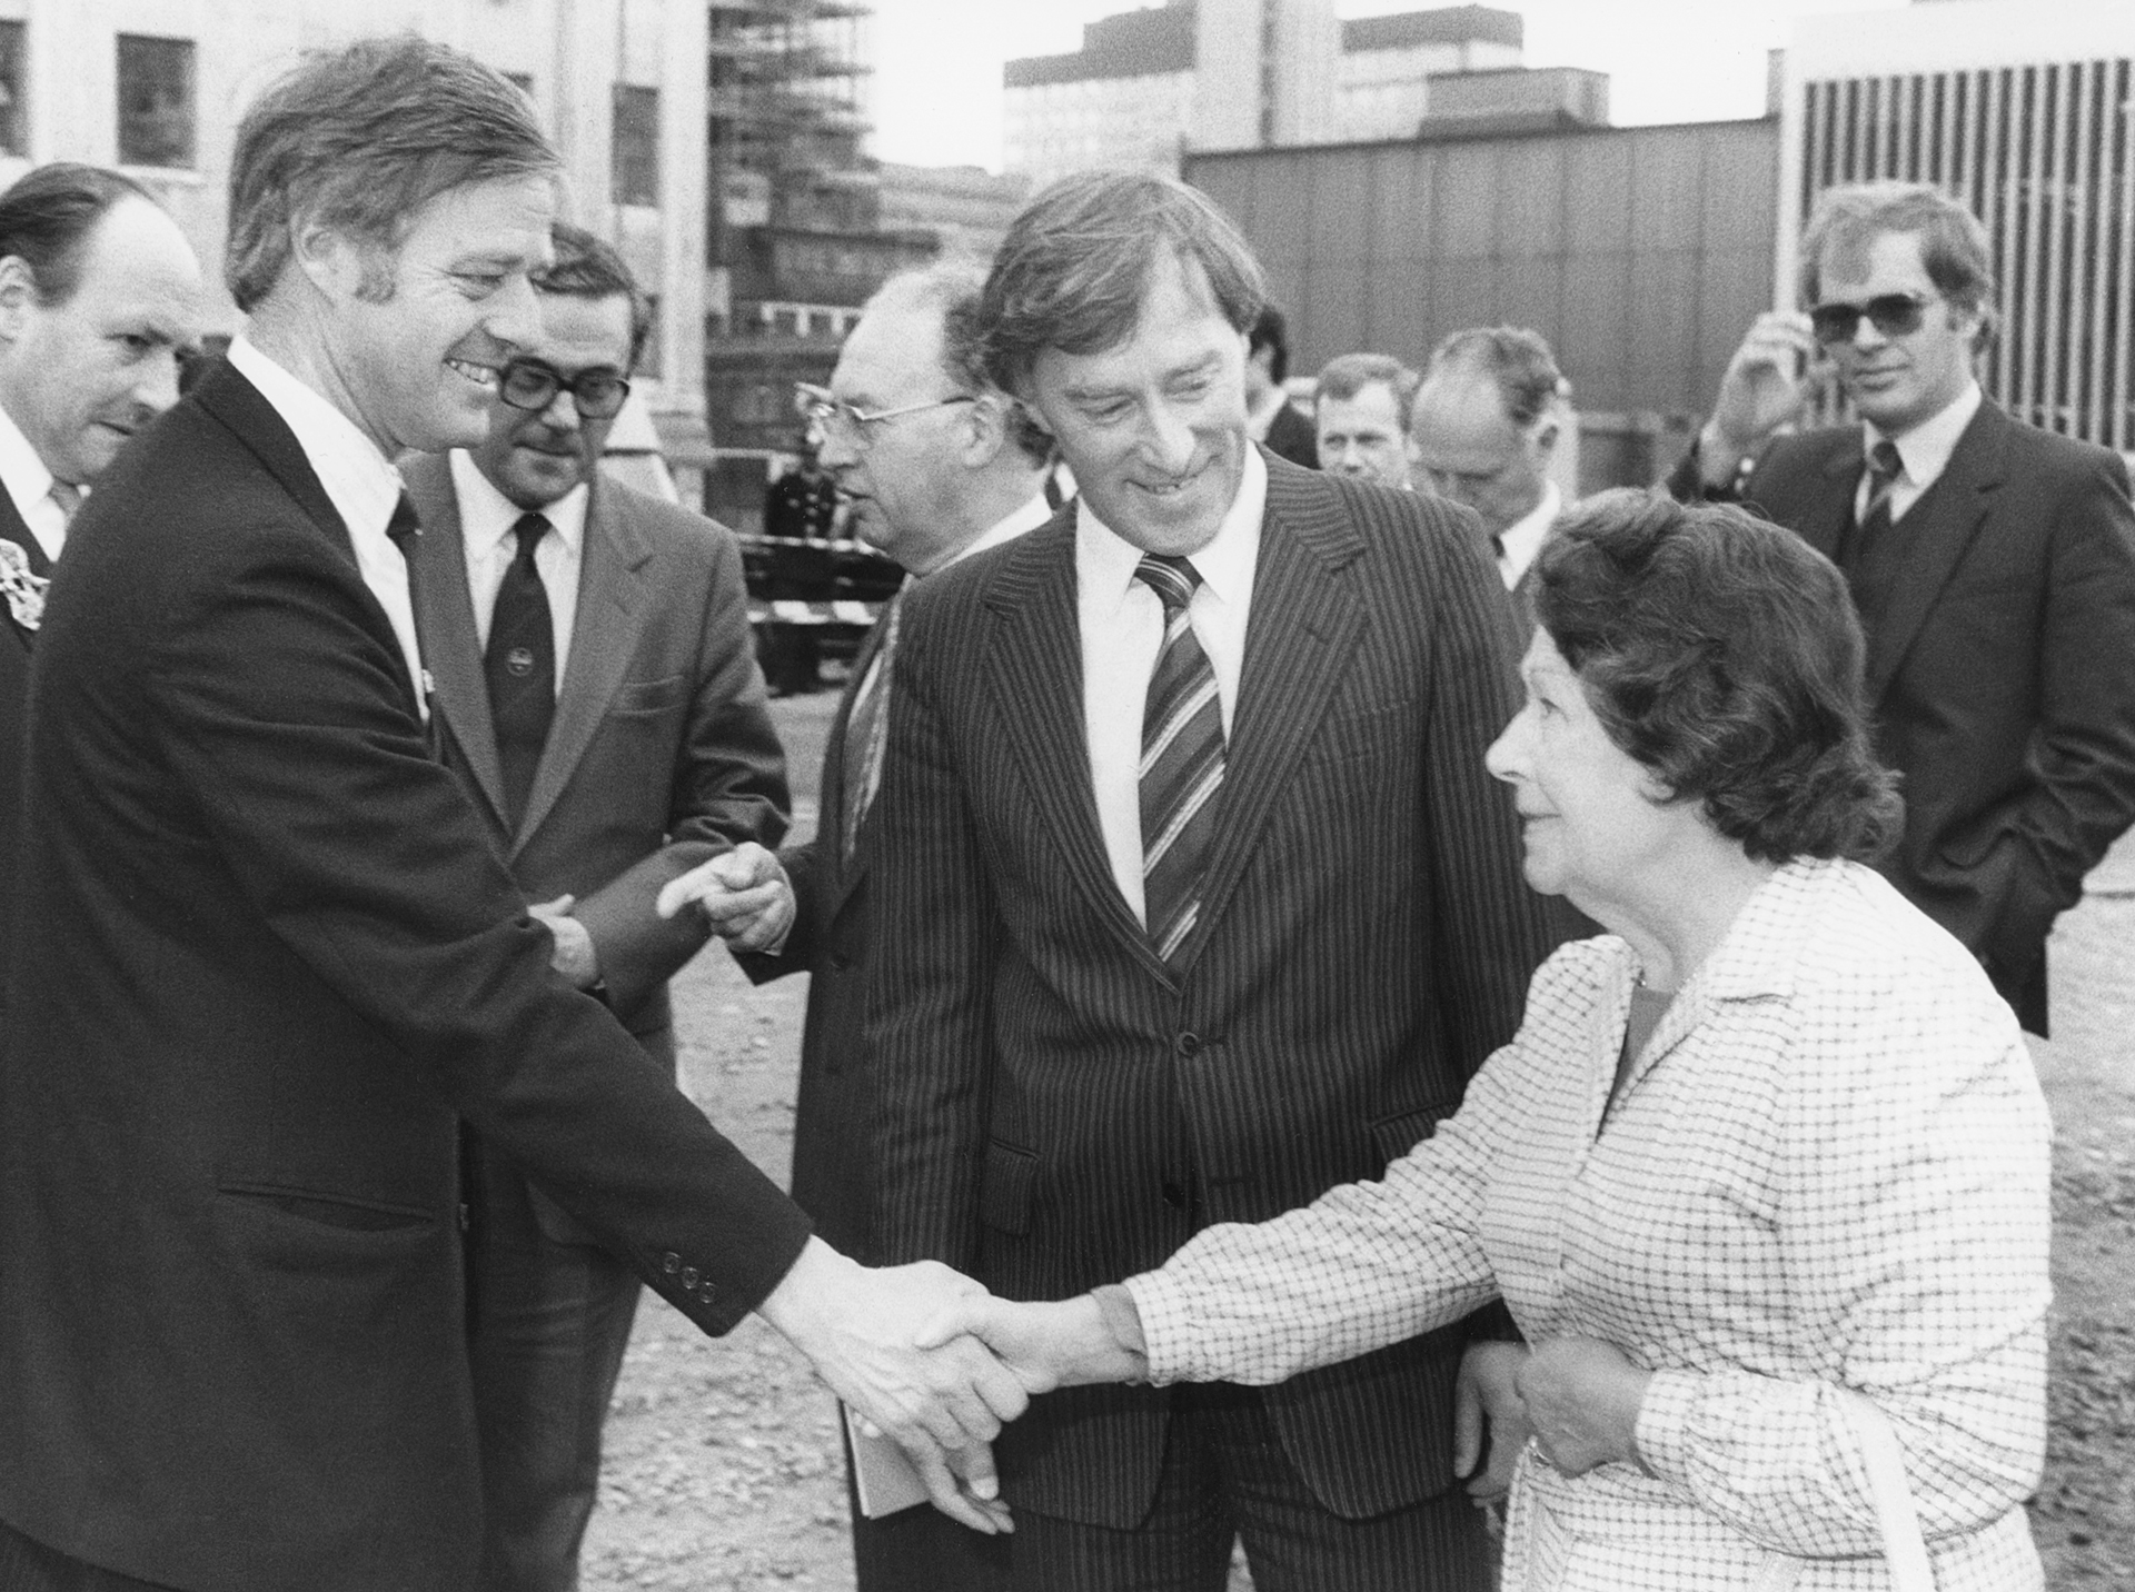
[[[564,154],[566,213],[653,297],[662,440],[705,435],[705,6],[685,0],[0,0],[0,181],[47,160],[156,192],[220,284],[237,117],[301,51],[412,30],[489,62]],[[220,292],[220,286],[218,286]],[[220,301],[224,329],[237,312]]]

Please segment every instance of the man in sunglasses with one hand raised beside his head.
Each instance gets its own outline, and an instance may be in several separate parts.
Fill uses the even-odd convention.
[[[1883,873],[2045,1033],[2045,937],[2135,817],[2135,514],[2122,461],[1973,376],[1986,228],[1917,184],[1823,194],[1806,314],[1757,320],[1678,497],[1734,497],[1845,570],[1877,753],[1904,777]],[[1781,435],[1819,354],[1857,425]]]

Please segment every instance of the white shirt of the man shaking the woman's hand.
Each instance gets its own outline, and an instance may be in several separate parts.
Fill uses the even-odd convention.
[[[423,717],[429,717],[429,691],[425,689],[423,649],[414,638],[414,604],[408,598],[408,561],[386,536],[393,510],[399,506],[401,478],[393,461],[378,452],[357,423],[342,414],[320,393],[312,391],[282,365],[271,361],[252,339],[239,335],[231,344],[231,365],[260,397],[273,405],[284,425],[297,433],[305,463],[327,491],[327,502],[348,527],[348,540],[357,551],[357,570],[363,585],[386,610],[393,634],[399,638],[401,657],[408,659],[408,681],[414,685],[414,700]]]

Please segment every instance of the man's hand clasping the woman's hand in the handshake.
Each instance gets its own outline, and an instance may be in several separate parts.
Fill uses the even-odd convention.
[[[912,1455],[935,1509],[971,1530],[1012,1530],[991,1443],[1029,1404],[971,1336],[920,1347],[920,1330],[986,1291],[937,1261],[869,1270],[811,1238],[758,1315],[831,1391]]]

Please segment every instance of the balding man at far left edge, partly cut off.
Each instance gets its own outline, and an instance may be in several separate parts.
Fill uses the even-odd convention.
[[[60,162],[0,194],[0,945],[45,587],[83,487],[177,401],[199,337],[201,265],[139,184]]]

